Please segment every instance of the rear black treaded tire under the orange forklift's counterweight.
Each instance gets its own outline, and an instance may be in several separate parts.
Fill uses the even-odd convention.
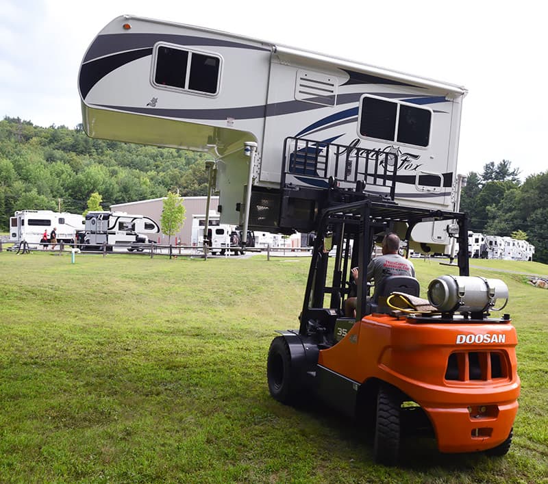
[[[394,466],[399,459],[401,440],[401,395],[390,385],[380,385],[375,420],[375,460]]]

